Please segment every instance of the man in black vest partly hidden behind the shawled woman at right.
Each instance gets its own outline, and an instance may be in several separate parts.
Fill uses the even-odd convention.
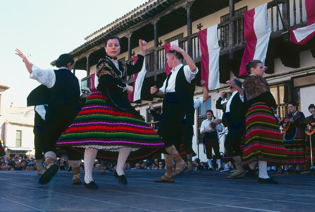
[[[210,124],[214,128],[217,124],[222,122],[223,125],[228,128],[228,134],[226,135],[224,146],[235,162],[236,171],[227,176],[227,178],[242,178],[245,176],[245,169],[241,165],[242,152],[240,147],[241,138],[245,131],[246,111],[243,106],[244,90],[242,89],[242,82],[238,78],[233,78],[231,81],[229,80],[226,83],[230,85],[230,92],[232,93],[232,96],[226,103],[221,104],[223,95],[226,93],[225,91],[221,92],[215,107],[223,110],[223,115],[221,119],[218,119]],[[256,164],[252,163],[250,165],[253,167],[250,168],[254,169]]]

